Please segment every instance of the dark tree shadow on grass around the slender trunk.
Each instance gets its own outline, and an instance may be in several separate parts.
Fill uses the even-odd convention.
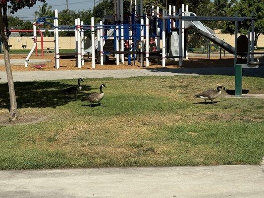
[[[82,85],[82,92],[75,96],[68,96],[65,93],[62,93],[63,89],[68,87],[76,86],[72,84],[65,84],[60,82],[15,82],[15,93],[17,97],[17,107],[18,108],[46,108],[65,105],[70,101],[75,101],[82,99],[87,96],[85,91],[90,91],[91,86]],[[9,108],[9,92],[8,84],[1,84],[0,86],[0,109]]]

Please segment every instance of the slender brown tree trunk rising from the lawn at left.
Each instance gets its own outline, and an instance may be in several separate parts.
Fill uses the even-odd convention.
[[[6,34],[4,33],[5,29],[7,31]],[[5,64],[9,97],[10,97],[10,115],[8,116],[8,120],[15,121],[18,115],[17,115],[17,103],[15,96],[14,80],[13,80],[11,64],[10,64],[10,56],[9,56],[8,32],[9,30],[8,30],[8,22],[6,15],[6,7],[2,6],[0,7],[0,33],[1,33],[1,42],[3,44],[4,64]]]

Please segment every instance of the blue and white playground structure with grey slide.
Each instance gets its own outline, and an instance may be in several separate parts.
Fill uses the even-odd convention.
[[[59,53],[58,34],[58,12],[55,10],[54,17],[47,16],[39,18],[37,23],[33,24],[34,38],[36,37],[36,27],[42,23],[47,23],[54,28],[54,57],[55,68],[59,68],[60,55],[74,55],[76,57],[76,66],[81,68],[85,63],[85,56],[91,54],[92,68],[95,68],[96,57],[98,63],[104,65],[108,56],[116,59],[116,65],[121,62],[124,64],[125,56],[128,65],[132,60],[139,61],[141,66],[149,66],[150,61],[161,62],[162,67],[166,66],[166,60],[172,59],[182,61],[188,59],[188,30],[194,29],[211,42],[231,54],[234,54],[234,65],[237,65],[237,56],[245,57],[243,68],[258,68],[258,62],[254,61],[254,13],[249,17],[211,17],[196,16],[195,13],[188,10],[188,5],[182,4],[176,13],[175,6],[168,6],[167,10],[159,12],[159,7],[152,6],[145,9],[143,13],[142,0],[135,0],[134,7],[132,1],[129,5],[129,17],[124,18],[123,0],[114,0],[114,15],[106,15],[99,24],[95,24],[94,17],[91,18],[91,25],[86,25],[80,19],[75,19],[75,25],[67,27],[75,32],[75,53]],[[47,19],[52,19],[53,24]],[[248,36],[237,37],[238,21],[251,20],[252,29]],[[201,21],[234,21],[235,22],[235,47],[219,39],[211,28],[205,26]],[[91,47],[84,50],[84,32],[91,31]],[[97,36],[97,37],[96,37]],[[238,42],[239,41],[239,42]],[[35,40],[34,40],[35,43]],[[246,46],[244,44],[247,44]],[[160,44],[162,48],[160,50]],[[25,65],[29,61],[31,54],[36,48],[32,48],[26,58]],[[72,57],[72,56],[71,56]]]

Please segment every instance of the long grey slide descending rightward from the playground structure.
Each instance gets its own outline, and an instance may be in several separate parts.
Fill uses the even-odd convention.
[[[185,16],[196,16],[193,12],[185,12]],[[219,47],[225,49],[231,54],[235,53],[235,48],[225,43],[223,40],[219,39],[215,36],[213,30],[207,26],[205,26],[201,21],[184,21],[184,27],[186,29],[195,29],[201,35],[207,37],[211,42],[218,45]]]

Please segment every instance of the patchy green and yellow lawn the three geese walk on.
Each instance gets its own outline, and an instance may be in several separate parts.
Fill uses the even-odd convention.
[[[258,164],[264,155],[263,99],[193,98],[233,89],[233,76],[84,81],[78,99],[60,92],[76,79],[15,83],[20,115],[44,120],[0,126],[0,169]],[[104,107],[80,101],[101,83]],[[263,94],[264,80],[243,77],[243,88]],[[7,84],[0,93],[6,114]]]

